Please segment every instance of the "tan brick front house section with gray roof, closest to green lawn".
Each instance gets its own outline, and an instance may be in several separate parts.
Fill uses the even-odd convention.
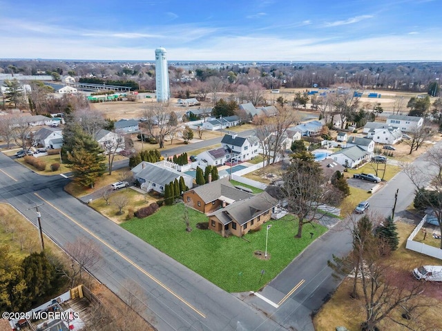
[[[262,192],[249,199],[222,206],[208,215],[209,229],[222,237],[229,237],[230,234],[242,237],[269,221],[277,204],[276,199],[267,192]]]

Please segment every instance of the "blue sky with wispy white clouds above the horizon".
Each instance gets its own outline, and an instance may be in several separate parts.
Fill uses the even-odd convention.
[[[441,0],[0,0],[0,58],[441,61]]]

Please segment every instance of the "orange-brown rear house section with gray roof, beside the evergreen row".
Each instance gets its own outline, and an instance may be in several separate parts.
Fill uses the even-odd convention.
[[[223,205],[229,205],[249,197],[253,197],[253,194],[238,190],[227,177],[200,185],[184,192],[183,195],[184,203],[204,213],[213,212]]]

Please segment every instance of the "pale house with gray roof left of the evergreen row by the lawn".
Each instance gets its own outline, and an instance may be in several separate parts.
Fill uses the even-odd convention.
[[[131,171],[135,180],[141,184],[141,189],[146,192],[154,190],[164,194],[164,186],[171,183],[171,181],[175,181],[175,179],[180,180],[180,177],[183,177],[188,188],[193,188],[193,177],[155,163],[142,161]]]

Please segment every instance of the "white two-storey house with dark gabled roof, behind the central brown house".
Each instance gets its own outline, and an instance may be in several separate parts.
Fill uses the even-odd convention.
[[[229,161],[247,161],[258,155],[259,139],[256,136],[238,137],[236,133],[225,134],[221,145],[229,152]]]

